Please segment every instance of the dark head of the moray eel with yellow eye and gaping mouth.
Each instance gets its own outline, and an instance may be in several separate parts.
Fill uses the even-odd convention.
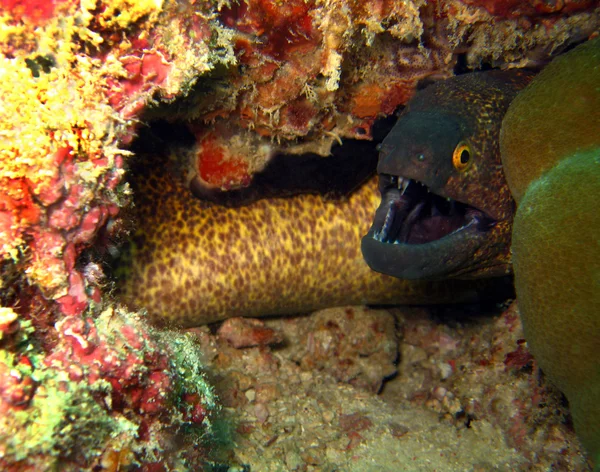
[[[514,201],[498,134],[532,77],[478,72],[417,92],[380,148],[381,205],[362,239],[373,270],[403,279],[510,272]]]

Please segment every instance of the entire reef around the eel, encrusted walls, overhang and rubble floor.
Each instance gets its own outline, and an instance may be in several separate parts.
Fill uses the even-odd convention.
[[[503,354],[492,361],[478,357],[480,347],[500,338],[474,328],[453,338],[439,320],[398,313],[394,328],[389,313],[374,320],[363,308],[350,309],[362,331],[338,332],[322,313],[303,328],[305,319],[294,318],[273,321],[287,328],[238,321],[165,331],[143,307],[119,303],[105,269],[137,228],[127,180],[143,159],[135,150],[146,126],[168,122],[192,137],[169,156],[184,189],[240,190],[276,154],[327,156],[335,143],[371,140],[376,120],[419,84],[479,67],[542,66],[599,25],[597,2],[586,0],[0,0],[0,468],[198,470],[222,462],[270,470],[254,455],[266,451],[272,470],[282,460],[289,470],[368,470],[360,461],[377,457],[433,470],[428,461],[441,454],[460,457],[438,469],[459,470],[470,460],[456,449],[470,447],[458,441],[464,434],[485,436],[476,470],[586,470],[564,408],[539,393],[546,387],[521,341],[502,338],[497,352],[510,362]],[[177,307],[166,309],[179,318]],[[516,323],[514,312],[507,316]],[[398,326],[412,337],[400,351]],[[328,337],[357,341],[328,356]],[[475,351],[477,361],[451,357],[432,370],[440,343],[454,352],[446,342]],[[277,350],[282,344],[288,351]],[[395,393],[395,406],[385,390],[373,392],[398,352],[401,366],[411,355],[420,365],[398,378],[424,380],[414,395]],[[272,380],[282,366],[281,385],[259,376]],[[455,369],[480,368],[502,375],[438,385]],[[470,394],[474,385],[485,391]],[[301,392],[306,404],[294,404]],[[335,441],[326,456],[299,442],[303,413],[314,441]],[[223,421],[237,424],[229,452],[217,447],[231,442],[219,434]],[[332,429],[318,436],[323,424]],[[418,452],[426,449],[430,456]]]

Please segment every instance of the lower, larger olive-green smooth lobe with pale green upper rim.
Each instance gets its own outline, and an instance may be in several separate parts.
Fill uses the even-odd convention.
[[[517,299],[531,352],[567,396],[600,470],[600,147],[531,183],[513,227]]]

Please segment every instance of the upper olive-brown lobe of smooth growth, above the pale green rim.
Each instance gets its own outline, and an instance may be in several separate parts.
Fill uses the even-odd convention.
[[[513,197],[565,156],[600,146],[600,37],[554,59],[511,103],[500,133]]]

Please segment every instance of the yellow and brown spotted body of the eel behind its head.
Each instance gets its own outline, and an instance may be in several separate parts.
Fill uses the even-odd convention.
[[[193,197],[168,172],[138,176],[123,299],[179,326],[348,304],[474,299],[472,283],[403,281],[369,269],[360,238],[379,203],[376,185],[372,178],[337,201],[299,195],[227,208]]]

